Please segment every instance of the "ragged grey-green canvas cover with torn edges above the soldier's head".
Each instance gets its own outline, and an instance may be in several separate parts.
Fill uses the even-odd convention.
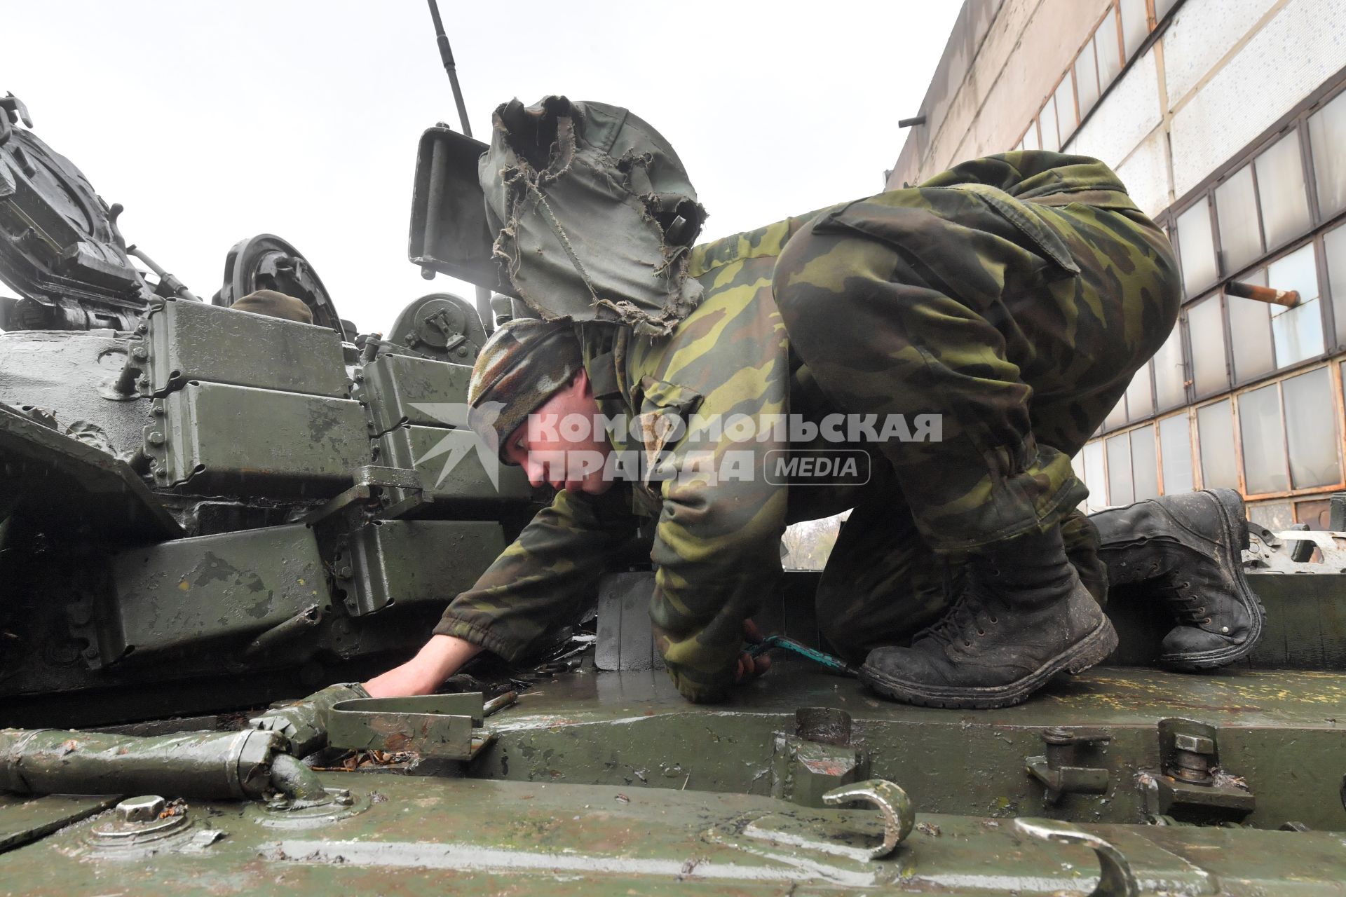
[[[493,118],[478,169],[494,256],[544,319],[666,336],[696,308],[688,256],[705,221],[682,163],[626,109],[544,97]]]

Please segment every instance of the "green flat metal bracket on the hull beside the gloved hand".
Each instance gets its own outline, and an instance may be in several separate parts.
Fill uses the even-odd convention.
[[[481,691],[413,698],[357,698],[332,705],[327,744],[350,750],[401,750],[439,760],[472,760],[495,737],[482,728]]]

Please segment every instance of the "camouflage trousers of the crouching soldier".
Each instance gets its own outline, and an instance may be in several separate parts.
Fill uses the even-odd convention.
[[[1092,161],[1092,160],[1086,160]],[[960,557],[1063,527],[1102,601],[1097,531],[1070,459],[1176,320],[1163,233],[1110,188],[898,190],[840,206],[774,274],[790,344],[851,414],[938,414],[940,441],[879,445],[878,471],[828,561],[818,621],[857,659],[938,617]]]

